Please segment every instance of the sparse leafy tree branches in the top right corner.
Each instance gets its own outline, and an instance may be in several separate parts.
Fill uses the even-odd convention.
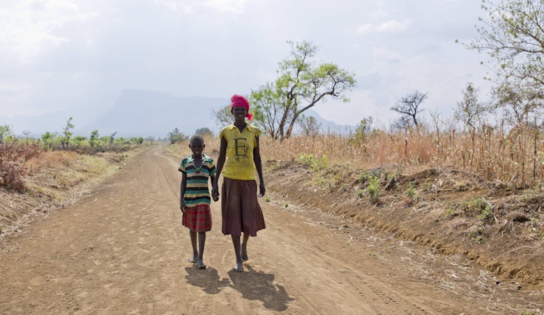
[[[544,2],[541,0],[482,0],[489,19],[476,26],[480,38],[465,45],[486,52],[490,68],[517,88],[544,90]]]

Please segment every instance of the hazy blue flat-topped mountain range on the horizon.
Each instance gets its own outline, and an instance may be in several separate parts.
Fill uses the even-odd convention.
[[[208,128],[214,134],[218,134],[222,126],[216,124],[215,118],[212,117],[212,109],[218,110],[229,103],[228,98],[174,97],[165,92],[123,90],[113,108],[105,113],[93,113],[93,117],[75,111],[59,111],[40,116],[0,117],[0,124],[10,125],[17,135],[23,131],[31,131],[31,136],[35,137],[39,137],[45,131],[61,134],[70,117],[74,118],[73,133],[77,136],[89,136],[91,131],[98,130],[100,136],[116,133],[116,137],[165,138],[175,128],[188,136],[201,128]],[[92,111],[88,109],[85,111],[89,112]],[[355,128],[325,120],[311,109],[303,114],[315,117],[323,132],[345,133]],[[295,128],[294,134],[296,132]]]

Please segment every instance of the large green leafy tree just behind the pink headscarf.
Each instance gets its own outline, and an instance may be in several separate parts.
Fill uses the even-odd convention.
[[[291,45],[291,56],[280,61],[278,79],[252,91],[250,96],[255,121],[280,140],[289,138],[299,116],[319,102],[327,98],[349,102],[345,93],[356,83],[354,74],[338,65],[313,63],[318,49],[312,42],[287,43]]]

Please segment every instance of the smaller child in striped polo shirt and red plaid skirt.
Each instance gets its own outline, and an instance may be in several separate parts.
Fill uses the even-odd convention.
[[[200,269],[206,268],[202,256],[206,232],[211,230],[211,198],[208,181],[211,179],[213,183],[216,176],[216,165],[213,159],[202,153],[205,146],[201,135],[192,136],[189,145],[192,155],[183,159],[178,169],[181,172],[179,206],[183,212],[181,223],[188,227],[192,245],[192,257],[189,261],[193,264],[197,263]],[[218,200],[219,197],[213,197],[213,201]]]

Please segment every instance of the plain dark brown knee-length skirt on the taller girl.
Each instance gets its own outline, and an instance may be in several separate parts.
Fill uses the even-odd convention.
[[[222,234],[257,236],[266,229],[262,209],[257,202],[257,182],[223,177],[221,187]]]

